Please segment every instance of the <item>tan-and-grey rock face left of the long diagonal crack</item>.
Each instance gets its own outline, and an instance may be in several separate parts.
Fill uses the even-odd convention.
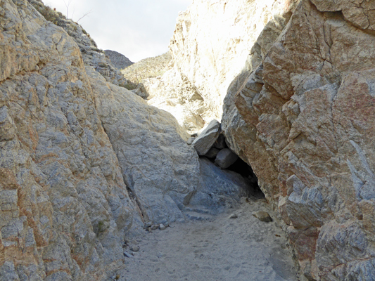
[[[1,11],[1,278],[104,278],[123,267],[122,241],[141,230],[141,213],[80,49],[27,1]]]

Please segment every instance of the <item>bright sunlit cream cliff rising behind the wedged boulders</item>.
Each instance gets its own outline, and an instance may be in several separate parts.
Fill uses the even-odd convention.
[[[177,18],[170,70],[145,83],[151,101],[158,100],[153,104],[191,133],[212,119],[220,121],[231,81],[245,65],[260,63],[286,24],[288,16],[282,15],[295,1],[288,2],[194,1]]]

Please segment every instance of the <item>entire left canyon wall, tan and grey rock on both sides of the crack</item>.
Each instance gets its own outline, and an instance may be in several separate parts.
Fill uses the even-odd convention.
[[[205,192],[212,210],[246,195],[229,172],[210,190],[201,169],[216,167],[172,115],[96,71],[94,41],[30,2],[0,1],[0,280],[108,280],[144,223],[184,220]]]

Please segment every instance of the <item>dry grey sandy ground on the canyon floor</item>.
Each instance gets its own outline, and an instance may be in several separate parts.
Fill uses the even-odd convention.
[[[273,214],[265,203],[245,202],[211,221],[174,223],[133,240],[140,250],[125,258],[126,280],[298,280],[283,231],[252,216],[260,210]]]

